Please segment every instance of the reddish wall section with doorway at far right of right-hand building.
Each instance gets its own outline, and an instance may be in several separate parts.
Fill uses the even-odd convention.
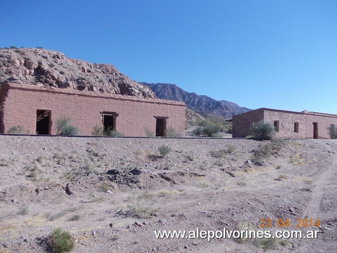
[[[330,139],[330,125],[337,127],[337,115],[313,113],[308,112],[305,120],[305,138],[313,138],[314,125],[313,122],[318,123],[318,135],[319,139]]]

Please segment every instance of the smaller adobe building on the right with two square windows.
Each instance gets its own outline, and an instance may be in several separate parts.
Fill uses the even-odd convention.
[[[259,108],[233,116],[232,137],[250,135],[250,126],[260,120],[271,123],[275,127],[275,138],[330,139],[330,127],[333,126],[335,129],[337,127],[336,114]]]

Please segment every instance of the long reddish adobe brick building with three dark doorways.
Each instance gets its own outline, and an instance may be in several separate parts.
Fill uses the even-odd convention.
[[[81,135],[91,135],[96,125],[124,136],[145,136],[145,128],[164,136],[168,127],[184,135],[183,102],[22,84],[0,89],[1,133],[20,125],[30,134],[55,134],[56,119],[70,116]]]

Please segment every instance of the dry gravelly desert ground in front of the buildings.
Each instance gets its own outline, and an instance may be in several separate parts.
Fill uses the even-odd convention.
[[[165,156],[162,145],[171,149]],[[52,252],[54,228],[71,234],[74,253],[337,252],[337,140],[2,135],[0,148],[0,253]],[[305,218],[319,226],[296,227]],[[261,228],[261,219],[271,226]],[[319,232],[155,236],[245,226]]]

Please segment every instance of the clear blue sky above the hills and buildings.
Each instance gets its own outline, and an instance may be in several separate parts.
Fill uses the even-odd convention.
[[[0,17],[0,47],[251,109],[337,114],[337,0],[0,0]]]

